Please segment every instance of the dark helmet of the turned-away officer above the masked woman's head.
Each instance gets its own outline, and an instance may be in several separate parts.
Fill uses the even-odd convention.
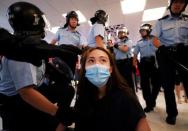
[[[92,24],[95,24],[96,22],[98,22],[99,24],[103,24],[104,26],[107,20],[108,20],[108,15],[106,14],[104,10],[97,10],[95,12],[94,17],[90,19]]]

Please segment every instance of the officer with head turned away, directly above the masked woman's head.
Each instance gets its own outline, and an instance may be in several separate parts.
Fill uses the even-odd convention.
[[[94,17],[90,19],[92,27],[88,36],[89,47],[106,47],[105,45],[105,23],[108,15],[104,10],[97,10]]]

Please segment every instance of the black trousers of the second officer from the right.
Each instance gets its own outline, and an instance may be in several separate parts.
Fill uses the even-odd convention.
[[[155,57],[142,58],[138,64],[140,70],[141,88],[146,106],[153,108],[161,87],[159,70],[155,65]]]

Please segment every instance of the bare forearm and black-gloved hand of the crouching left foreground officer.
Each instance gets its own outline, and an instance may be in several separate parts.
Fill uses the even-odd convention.
[[[65,126],[72,124],[72,122],[76,118],[76,113],[74,113],[74,110],[71,110],[70,107],[64,105],[59,105],[58,107],[56,104],[50,102],[45,96],[43,96],[34,88],[35,86],[31,85],[19,89],[18,92],[21,98],[34,108],[56,117],[57,120],[59,120],[59,122],[61,122]],[[62,125],[59,126],[62,127]]]

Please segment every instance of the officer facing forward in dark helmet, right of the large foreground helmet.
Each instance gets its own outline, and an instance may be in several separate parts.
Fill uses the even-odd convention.
[[[51,44],[58,42],[58,45],[65,44],[79,48],[85,47],[86,41],[84,37],[76,30],[77,26],[80,25],[78,22],[78,14],[75,11],[68,12],[64,27],[58,29]]]

